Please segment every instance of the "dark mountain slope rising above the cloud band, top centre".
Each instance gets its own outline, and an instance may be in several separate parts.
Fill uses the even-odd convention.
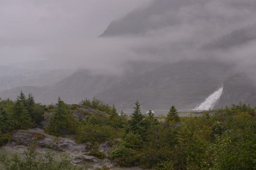
[[[196,0],[198,1],[198,0]],[[175,14],[180,7],[189,6],[194,1],[189,0],[153,0],[145,8],[138,8],[119,20],[112,21],[100,36],[120,36],[145,34],[149,30],[164,28],[180,23]],[[165,15],[169,13],[169,15]]]

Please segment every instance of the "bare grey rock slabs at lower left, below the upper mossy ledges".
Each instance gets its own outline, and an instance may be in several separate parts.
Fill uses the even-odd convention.
[[[48,135],[41,128],[16,130],[12,133],[12,140],[11,143],[6,144],[4,147],[19,153],[23,153],[27,146],[36,144],[37,152],[40,153],[45,153],[45,148],[72,153],[74,157],[72,162],[80,165],[85,164],[88,170],[97,170],[102,167],[114,168],[117,166],[108,159],[108,156],[120,139],[106,141],[99,145],[99,152],[103,152],[107,156],[104,159],[89,155],[93,146],[90,142],[77,144],[72,138]]]

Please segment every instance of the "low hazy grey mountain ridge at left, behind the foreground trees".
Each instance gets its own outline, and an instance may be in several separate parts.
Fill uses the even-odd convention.
[[[67,103],[79,103],[114,83],[115,76],[91,75],[88,71],[78,71],[55,85],[16,87],[0,91],[0,97],[14,100],[22,90],[25,94],[32,93],[36,102],[44,104],[56,103],[58,96]]]

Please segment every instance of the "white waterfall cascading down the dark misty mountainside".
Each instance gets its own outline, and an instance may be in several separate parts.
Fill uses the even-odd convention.
[[[209,110],[212,109],[215,103],[219,100],[221,94],[223,92],[223,87],[220,87],[216,92],[210,94],[209,97],[205,99],[204,102],[199,104],[199,106],[195,107],[193,110]]]

